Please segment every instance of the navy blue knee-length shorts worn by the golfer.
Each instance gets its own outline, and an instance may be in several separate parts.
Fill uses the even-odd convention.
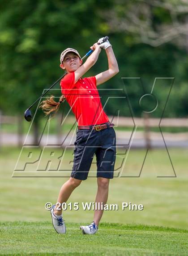
[[[97,159],[97,177],[112,179],[116,157],[116,136],[113,127],[103,130],[77,130],[71,177],[86,180],[94,155]]]

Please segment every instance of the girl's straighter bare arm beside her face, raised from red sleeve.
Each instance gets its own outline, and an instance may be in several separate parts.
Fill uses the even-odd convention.
[[[81,65],[74,73],[75,73],[75,83],[78,81],[78,79],[83,76],[97,61],[98,55],[101,52],[100,46],[95,43],[91,49],[94,50],[94,52],[87,58],[85,63]]]

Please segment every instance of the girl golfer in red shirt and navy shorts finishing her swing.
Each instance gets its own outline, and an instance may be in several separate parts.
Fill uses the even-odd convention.
[[[101,43],[103,38],[98,40]],[[96,155],[97,159],[97,184],[98,190],[95,202],[107,203],[109,180],[113,178],[115,165],[115,130],[114,124],[108,120],[98,94],[97,86],[106,82],[118,72],[118,64],[109,41],[101,45],[95,43],[91,49],[94,52],[82,65],[80,54],[75,49],[65,49],[60,55],[60,67],[65,69],[67,75],[60,82],[62,96],[60,102],[53,100],[53,96],[43,101],[42,108],[45,113],[57,111],[65,99],[70,105],[78,123],[77,138],[74,143],[74,161],[71,177],[66,181],[57,199],[60,205],[67,202],[71,193],[86,180],[90,166]],[[108,69],[96,76],[84,77],[97,61],[101,49],[105,49],[108,59]],[[95,234],[103,215],[103,210],[95,210],[93,222],[81,226],[83,234]],[[57,233],[65,234],[66,227],[62,218],[62,208],[57,204],[51,210],[54,229]]]

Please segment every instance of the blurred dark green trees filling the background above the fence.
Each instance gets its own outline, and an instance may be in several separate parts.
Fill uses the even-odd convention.
[[[101,36],[108,35],[120,72],[103,88],[122,88],[121,77],[141,77],[150,91],[155,77],[175,77],[166,117],[187,114],[187,49],[184,0],[1,0],[0,109],[21,114],[61,75],[59,57],[67,47],[83,56]],[[86,74],[107,69],[105,52]],[[130,86],[131,103],[139,116],[137,90]],[[56,88],[60,88],[59,84]],[[156,88],[162,95],[161,88]],[[165,85],[163,87],[166,90]],[[124,109],[123,101],[113,101]],[[37,120],[36,120],[37,121]]]

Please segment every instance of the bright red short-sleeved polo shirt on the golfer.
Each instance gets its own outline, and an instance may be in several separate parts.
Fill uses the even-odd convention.
[[[103,111],[95,76],[80,78],[75,83],[75,74],[71,72],[60,81],[60,86],[78,126],[99,125],[109,121]]]

